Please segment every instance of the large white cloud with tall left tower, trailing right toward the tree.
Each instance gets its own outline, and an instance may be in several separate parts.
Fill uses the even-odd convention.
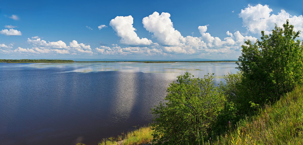
[[[178,30],[175,30],[170,16],[169,13],[154,12],[142,20],[144,28],[153,33],[153,37],[157,39],[157,43],[154,43],[151,48],[161,50],[164,55],[234,53],[234,51],[241,50],[241,45],[247,39],[251,39],[251,41],[257,39],[251,36],[242,36],[238,31],[235,32],[235,35],[240,34],[241,37],[235,37],[228,31],[227,35],[230,37],[220,39],[206,32],[208,25],[198,27],[200,37],[184,37]]]

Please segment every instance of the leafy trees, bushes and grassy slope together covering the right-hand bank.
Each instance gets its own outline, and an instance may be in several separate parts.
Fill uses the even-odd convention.
[[[288,20],[261,40],[242,45],[239,72],[186,72],[151,109],[154,145],[302,144],[303,43]],[[149,133],[148,133],[149,134]],[[116,142],[117,143],[117,142]]]

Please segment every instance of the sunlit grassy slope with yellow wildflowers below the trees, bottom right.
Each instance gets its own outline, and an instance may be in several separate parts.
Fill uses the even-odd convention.
[[[250,121],[248,121],[250,120]],[[213,145],[299,145],[303,144],[303,87],[298,87],[238,128],[217,137]]]

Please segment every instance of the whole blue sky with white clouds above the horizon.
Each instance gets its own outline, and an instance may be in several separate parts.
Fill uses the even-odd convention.
[[[0,59],[237,59],[303,1],[0,1]],[[302,39],[302,35],[299,39]]]

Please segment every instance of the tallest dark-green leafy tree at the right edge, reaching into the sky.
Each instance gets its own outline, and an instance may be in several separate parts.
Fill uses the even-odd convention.
[[[283,29],[284,28],[284,29]],[[303,43],[295,40],[300,31],[288,20],[283,28],[277,27],[272,34],[261,32],[261,41],[242,45],[238,58],[238,69],[242,72],[241,83],[243,104],[265,104],[275,102],[281,95],[291,91],[303,82]]]

